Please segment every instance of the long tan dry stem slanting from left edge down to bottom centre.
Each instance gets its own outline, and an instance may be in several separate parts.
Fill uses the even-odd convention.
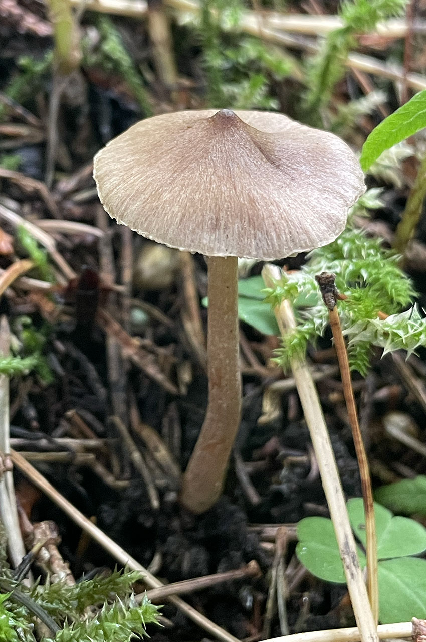
[[[101,531],[98,526],[94,525],[90,519],[87,519],[83,515],[83,513],[80,512],[76,507],[74,507],[70,501],[65,499],[63,495],[61,495],[52,485],[51,483],[47,482],[46,478],[42,476],[42,474],[38,473],[38,471],[31,466],[28,462],[24,460],[19,453],[16,451],[12,451],[11,453],[11,459],[13,464],[19,468],[22,474],[24,474],[28,479],[31,480],[31,482],[37,486],[42,492],[44,492],[57,506],[62,508],[64,512],[74,521],[80,528],[83,528],[85,532],[87,532],[90,537],[92,537],[100,546],[102,546],[114,559],[119,562],[119,564],[123,564],[123,566],[127,566],[127,568],[133,570],[133,571],[141,571],[144,575],[144,582],[147,584],[149,587],[153,589],[158,589],[162,586],[162,582],[158,580],[156,577],[154,577],[151,573],[149,573],[148,569],[146,569],[142,564],[139,564],[137,560],[133,559],[133,557],[130,557],[128,553],[124,550],[124,548],[121,548],[114,540],[112,540],[108,535],[105,535],[103,531]],[[194,621],[198,626],[200,626],[202,629],[206,630],[210,636],[213,636],[214,638],[221,640],[221,642],[238,642],[237,638],[234,638],[231,634],[226,632],[224,629],[221,627],[217,626],[214,622],[203,616],[201,613],[196,611],[192,606],[181,600],[180,598],[176,596],[170,596],[167,598],[169,602],[172,602],[175,604],[178,609],[180,609],[185,615],[190,618],[190,620]]]

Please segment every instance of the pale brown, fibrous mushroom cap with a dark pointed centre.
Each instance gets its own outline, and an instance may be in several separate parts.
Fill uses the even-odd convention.
[[[278,259],[333,241],[364,192],[350,148],[271,112],[200,110],[133,125],[94,159],[105,210],[207,256]]]

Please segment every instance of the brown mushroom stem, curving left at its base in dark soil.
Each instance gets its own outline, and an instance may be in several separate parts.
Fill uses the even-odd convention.
[[[237,315],[237,258],[209,257],[207,360],[209,405],[189,464],[180,500],[191,512],[219,498],[241,415]]]

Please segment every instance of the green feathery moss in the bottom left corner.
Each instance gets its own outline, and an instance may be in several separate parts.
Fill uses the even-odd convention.
[[[31,588],[16,582],[6,560],[6,537],[0,523],[0,641],[36,642],[35,614],[55,627],[55,638],[46,642],[130,642],[146,636],[146,625],[158,624],[158,607],[147,598],[135,601],[132,584],[141,578],[135,571],[65,582],[36,582]],[[38,638],[37,638],[38,639]]]

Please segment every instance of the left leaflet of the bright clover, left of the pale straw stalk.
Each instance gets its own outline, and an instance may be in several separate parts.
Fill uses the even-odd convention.
[[[327,582],[346,582],[343,564],[337,548],[332,521],[326,517],[305,517],[297,525],[296,555],[308,571]],[[359,551],[362,568],[365,556]]]

